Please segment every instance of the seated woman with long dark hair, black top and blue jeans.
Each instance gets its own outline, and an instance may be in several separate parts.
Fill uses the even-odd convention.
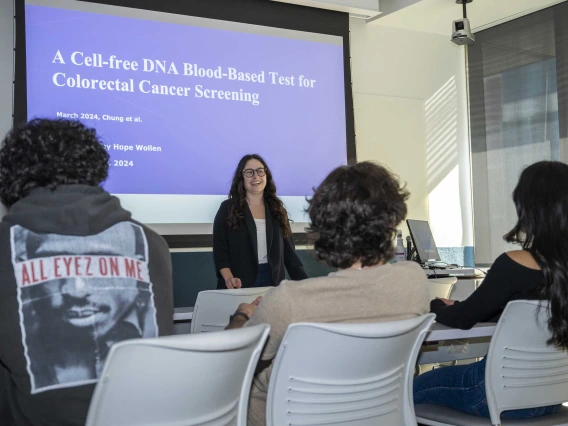
[[[444,325],[470,329],[497,321],[508,302],[549,302],[548,343],[568,349],[568,165],[541,161],[527,167],[513,192],[517,224],[504,239],[522,250],[499,256],[481,286],[465,301],[436,299],[430,309]],[[485,358],[469,365],[439,368],[414,381],[414,403],[444,405],[489,417]],[[555,413],[560,405],[505,411],[504,419]]]

